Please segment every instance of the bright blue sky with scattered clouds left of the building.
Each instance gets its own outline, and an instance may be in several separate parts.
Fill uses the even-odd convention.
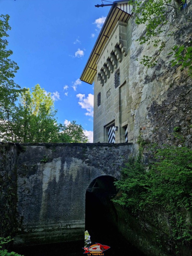
[[[51,92],[58,122],[76,120],[89,138],[93,85],[79,77],[110,9],[95,4],[101,0],[0,0],[1,14],[10,15],[8,48],[20,67],[14,81]]]

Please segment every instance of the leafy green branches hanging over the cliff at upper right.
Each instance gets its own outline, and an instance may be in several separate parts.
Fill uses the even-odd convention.
[[[192,19],[187,10],[183,10],[185,0],[134,0],[132,3],[136,24],[145,24],[146,28],[145,34],[142,34],[138,41],[140,44],[147,43],[157,47],[152,56],[144,55],[140,63],[147,67],[155,66],[157,56],[166,44],[170,44],[170,38],[177,37],[178,45],[170,45],[172,66],[181,65],[182,69],[188,68],[192,77]]]

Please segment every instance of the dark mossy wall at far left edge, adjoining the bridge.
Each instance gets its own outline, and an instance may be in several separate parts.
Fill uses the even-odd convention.
[[[13,236],[16,228],[17,154],[14,143],[0,142],[0,236]]]

